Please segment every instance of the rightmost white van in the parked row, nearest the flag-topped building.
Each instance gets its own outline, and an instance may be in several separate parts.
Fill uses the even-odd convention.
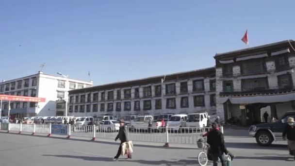
[[[186,122],[187,127],[202,128],[202,127],[207,127],[208,125],[209,117],[207,113],[189,114],[187,118],[188,118]]]

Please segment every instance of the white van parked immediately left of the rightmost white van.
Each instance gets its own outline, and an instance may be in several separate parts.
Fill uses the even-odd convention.
[[[181,127],[186,127],[186,121],[187,121],[187,115],[179,114],[179,115],[173,115],[170,117],[170,119],[167,121],[167,127],[169,130],[181,130]]]

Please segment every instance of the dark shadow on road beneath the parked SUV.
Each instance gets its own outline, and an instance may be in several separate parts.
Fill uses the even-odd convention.
[[[230,143],[226,142],[227,148],[240,148],[240,149],[275,149],[287,150],[287,145],[270,145],[268,147],[259,146],[256,143]]]

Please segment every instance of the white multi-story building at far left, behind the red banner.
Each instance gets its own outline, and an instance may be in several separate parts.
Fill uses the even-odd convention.
[[[37,74],[0,83],[0,94],[31,96],[46,98],[46,102],[20,102],[10,103],[11,117],[26,116],[63,116],[65,114],[65,100],[68,90],[86,88],[93,82],[79,81],[59,76]],[[2,116],[8,115],[8,101],[3,101]]]

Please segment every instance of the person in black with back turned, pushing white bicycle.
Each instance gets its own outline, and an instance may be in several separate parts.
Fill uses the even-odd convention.
[[[207,143],[210,145],[210,151],[213,157],[213,166],[217,166],[218,158],[221,160],[222,166],[225,166],[225,155],[228,154],[228,150],[224,145],[224,136],[217,130],[217,124],[212,124],[213,130],[208,133]]]

